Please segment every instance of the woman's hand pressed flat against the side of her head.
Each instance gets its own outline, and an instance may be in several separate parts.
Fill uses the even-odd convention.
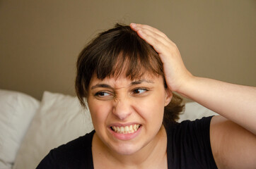
[[[174,92],[179,92],[182,85],[186,84],[193,76],[185,68],[176,44],[163,32],[149,25],[131,23],[130,27],[158,52],[163,62],[163,70],[168,88]]]

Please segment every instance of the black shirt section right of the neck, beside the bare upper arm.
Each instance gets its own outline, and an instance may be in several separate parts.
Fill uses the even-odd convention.
[[[180,168],[217,168],[210,143],[211,117],[185,120],[173,127],[173,163]]]

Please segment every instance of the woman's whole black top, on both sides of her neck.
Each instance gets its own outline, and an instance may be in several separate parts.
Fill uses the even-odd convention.
[[[211,117],[208,117],[165,126],[168,137],[168,168],[217,168],[211,152],[210,123]],[[37,168],[93,168],[91,145],[94,133],[93,130],[52,149]]]

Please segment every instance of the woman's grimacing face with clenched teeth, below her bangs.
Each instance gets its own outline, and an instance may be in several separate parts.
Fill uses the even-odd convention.
[[[99,80],[94,75],[87,101],[95,134],[110,151],[134,154],[156,139],[171,97],[161,76]]]

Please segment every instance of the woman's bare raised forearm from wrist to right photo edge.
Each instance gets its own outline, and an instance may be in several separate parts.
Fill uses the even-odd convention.
[[[256,87],[190,77],[176,92],[256,134]]]

